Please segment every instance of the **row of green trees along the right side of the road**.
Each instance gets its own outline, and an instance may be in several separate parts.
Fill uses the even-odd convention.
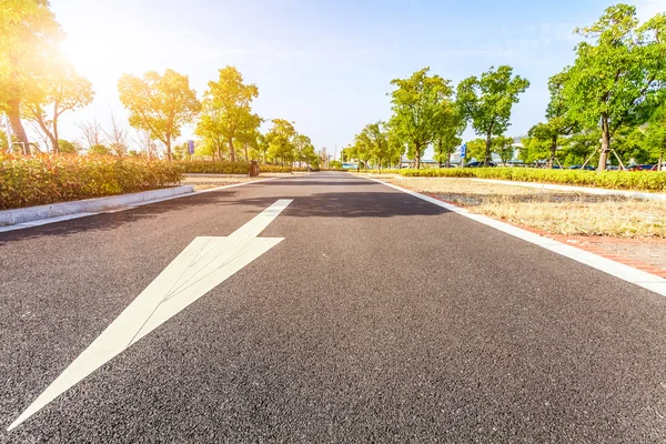
[[[584,40],[571,67],[549,79],[545,122],[522,140],[518,157],[526,163],[559,161],[587,163],[597,158],[599,170],[612,163],[654,161],[666,152],[666,14],[639,23],[636,8],[606,9],[592,26],[576,29]],[[529,82],[508,65],[470,77],[456,88],[425,68],[408,79],[391,82],[393,115],[389,122],[365,127],[343,151],[347,158],[379,167],[400,162],[406,153],[420,168],[432,147],[442,165],[472,125],[480,139],[467,142],[467,158],[503,162],[514,157],[514,138],[505,134],[511,112]],[[374,134],[381,129],[381,138]],[[379,143],[377,140],[384,141]],[[608,159],[612,155],[610,160]]]

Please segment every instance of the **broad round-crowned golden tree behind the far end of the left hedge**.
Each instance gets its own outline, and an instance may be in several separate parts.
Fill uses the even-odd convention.
[[[164,143],[167,158],[171,160],[171,142],[201,111],[188,75],[171,69],[164,75],[155,71],[147,72],[143,78],[123,74],[118,91],[123,107],[130,111],[130,125]]]

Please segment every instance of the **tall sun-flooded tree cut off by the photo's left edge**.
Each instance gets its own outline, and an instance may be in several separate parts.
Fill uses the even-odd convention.
[[[62,39],[47,0],[3,0],[0,7],[0,110],[9,118],[24,154],[30,143],[21,123],[21,102],[52,68],[51,54]]]

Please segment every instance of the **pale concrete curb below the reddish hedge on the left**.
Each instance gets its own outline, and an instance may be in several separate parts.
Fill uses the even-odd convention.
[[[97,213],[119,206],[135,205],[148,201],[172,198],[194,191],[192,185],[165,188],[140,193],[110,195],[107,198],[84,199],[80,201],[52,203],[49,205],[28,206],[0,211],[0,226],[17,225],[51,218],[63,218],[72,214]]]

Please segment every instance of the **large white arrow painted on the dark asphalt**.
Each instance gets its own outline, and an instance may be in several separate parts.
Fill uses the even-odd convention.
[[[280,243],[282,238],[258,235],[291,202],[279,200],[228,238],[194,239],[8,431]]]

